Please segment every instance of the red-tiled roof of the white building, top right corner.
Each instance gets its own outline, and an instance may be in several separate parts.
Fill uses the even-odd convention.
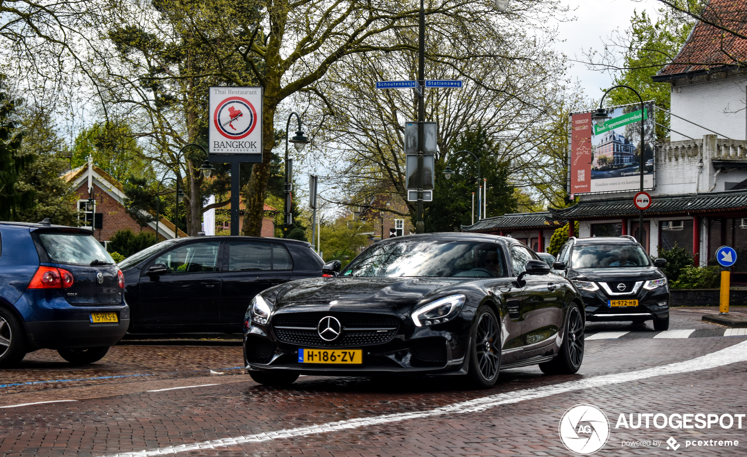
[[[747,35],[747,7],[743,0],[710,0],[703,13],[704,19]],[[722,31],[713,25],[698,22],[679,54],[657,75],[708,70],[734,65],[735,60],[747,57],[747,40]],[[656,81],[657,77],[654,77]]]

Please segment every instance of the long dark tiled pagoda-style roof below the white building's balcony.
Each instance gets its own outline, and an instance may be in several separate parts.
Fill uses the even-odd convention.
[[[548,208],[554,218],[598,219],[636,217],[638,209],[633,198],[610,198],[582,201],[568,208]],[[708,192],[685,195],[653,195],[646,216],[686,215],[689,213],[713,213],[725,211],[747,211],[747,189],[726,192]]]

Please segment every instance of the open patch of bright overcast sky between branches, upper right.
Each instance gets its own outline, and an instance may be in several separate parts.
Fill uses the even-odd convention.
[[[558,50],[563,51],[568,59],[584,60],[583,51],[593,48],[596,51],[604,49],[604,42],[615,31],[624,31],[630,27],[633,10],[646,10],[652,16],[661,4],[655,0],[566,0],[571,8],[575,8],[571,16],[576,16],[574,22],[562,22],[558,25]],[[610,86],[612,78],[607,73],[595,72],[587,69],[583,63],[573,63],[569,74],[578,79],[585,89],[586,95],[599,99],[602,92],[600,87]]]

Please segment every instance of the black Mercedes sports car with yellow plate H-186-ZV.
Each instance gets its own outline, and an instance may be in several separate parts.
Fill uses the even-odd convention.
[[[252,378],[270,385],[299,374],[429,374],[487,388],[500,368],[575,373],[583,327],[577,290],[525,245],[429,233],[371,245],[335,277],[257,294],[244,358]]]

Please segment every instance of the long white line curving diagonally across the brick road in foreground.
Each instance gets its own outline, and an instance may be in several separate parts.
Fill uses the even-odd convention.
[[[538,388],[527,388],[521,391],[506,392],[504,394],[495,394],[488,397],[477,398],[475,400],[441,406],[436,409],[427,409],[421,412],[401,412],[391,415],[338,420],[337,422],[321,423],[318,425],[298,427],[296,429],[284,429],[278,430],[277,432],[264,432],[256,435],[237,436],[235,438],[220,438],[217,440],[202,441],[193,444],[180,444],[179,446],[156,447],[131,453],[109,454],[108,457],[162,456],[164,454],[184,453],[190,450],[214,449],[223,446],[272,441],[279,438],[295,438],[306,435],[317,435],[318,433],[339,432],[341,430],[359,429],[361,427],[375,426],[382,423],[420,419],[422,417],[481,412],[486,409],[495,408],[495,406],[518,403],[525,400],[535,400],[537,398],[549,397],[551,395],[564,394],[565,392],[579,391],[595,387],[607,388],[610,384],[636,381],[638,379],[663,376],[666,374],[691,373],[692,371],[707,370],[709,368],[716,368],[736,362],[747,362],[747,341],[742,341],[734,344],[734,346],[717,350],[715,353],[710,353],[685,362],[677,362],[639,371],[629,371],[627,373],[594,376],[588,379],[561,382],[560,384],[546,385]]]

